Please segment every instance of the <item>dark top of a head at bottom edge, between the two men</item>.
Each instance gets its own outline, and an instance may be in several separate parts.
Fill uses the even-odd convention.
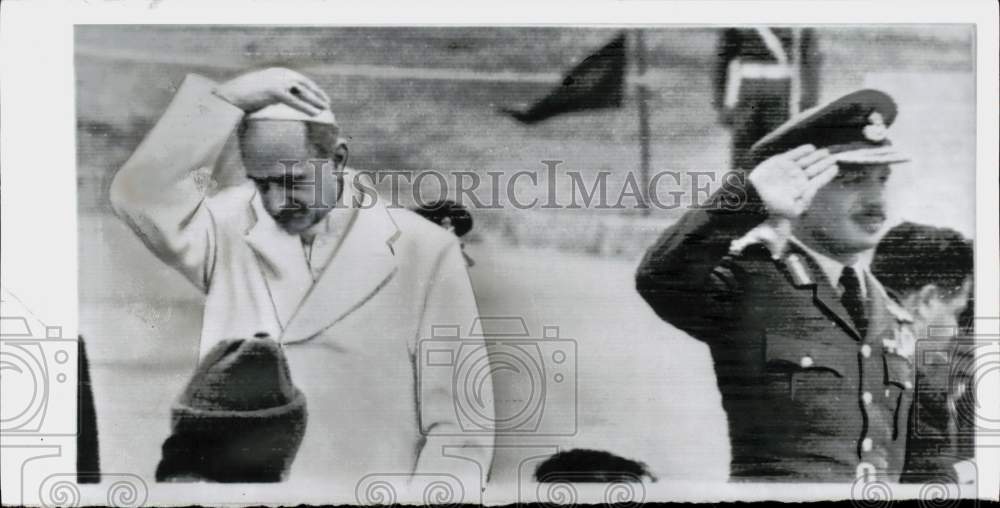
[[[601,450],[573,449],[559,452],[535,469],[535,480],[543,483],[619,483],[656,481],[641,462]]]

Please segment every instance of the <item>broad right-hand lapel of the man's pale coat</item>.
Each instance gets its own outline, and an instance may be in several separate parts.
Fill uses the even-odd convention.
[[[396,271],[392,244],[399,228],[382,203],[358,209],[333,259],[282,333],[282,342],[307,340],[359,308]]]

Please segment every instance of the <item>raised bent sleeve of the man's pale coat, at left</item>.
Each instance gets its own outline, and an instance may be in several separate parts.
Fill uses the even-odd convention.
[[[243,111],[188,75],[163,116],[111,183],[111,205],[165,263],[207,291],[215,264],[215,218],[192,171],[213,167]]]

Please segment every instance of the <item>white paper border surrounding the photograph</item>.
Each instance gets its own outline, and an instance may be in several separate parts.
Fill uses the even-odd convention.
[[[391,8],[389,8],[391,7]],[[678,26],[768,24],[928,24],[976,26],[976,307],[977,316],[1000,309],[998,243],[998,9],[995,2],[912,1],[491,1],[483,3],[384,1],[213,2],[80,1],[4,2],[0,17],[3,75],[0,89],[2,167],[2,281],[39,320],[77,334],[76,94],[74,25],[575,25]],[[113,77],[109,77],[113,79]],[[128,98],[122,98],[128,100]],[[41,205],[39,200],[43,199]],[[1000,317],[1000,316],[993,316]],[[995,325],[996,323],[994,323]],[[1000,336],[1000,330],[987,330]],[[74,365],[75,362],[69,362]],[[70,369],[74,370],[74,369]],[[69,382],[75,380],[70,372]],[[996,405],[1000,383],[979,383],[979,400]],[[9,387],[8,387],[9,388]],[[54,397],[70,392],[55,392]],[[75,390],[71,392],[75,396]],[[75,421],[75,398],[56,405]],[[65,402],[65,404],[63,404]],[[72,411],[70,411],[72,409]],[[59,412],[60,414],[62,411]],[[66,435],[0,436],[4,503],[38,502],[44,482],[75,473],[75,441]],[[977,441],[978,490],[1000,492],[1000,437]],[[353,493],[281,484],[234,486],[141,485],[128,472],[108,472],[96,486],[67,491],[61,504],[290,504],[354,502]],[[133,475],[134,476],[134,475]],[[70,478],[72,480],[72,478]],[[142,480],[139,480],[141,483]],[[112,497],[122,484],[133,491]],[[50,485],[51,486],[51,485]],[[916,487],[915,487],[916,488]],[[844,485],[700,484],[661,480],[647,485],[647,501],[749,501],[843,499]],[[583,489],[586,492],[586,489]],[[900,490],[899,492],[908,492]],[[295,493],[295,498],[289,498]],[[73,495],[76,498],[73,498]],[[916,496],[916,490],[913,495]],[[9,496],[9,497],[8,497]],[[117,500],[117,501],[113,501]],[[489,497],[489,504],[515,501]]]

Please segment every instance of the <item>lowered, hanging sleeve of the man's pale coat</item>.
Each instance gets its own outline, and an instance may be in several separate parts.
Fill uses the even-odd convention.
[[[460,403],[459,398],[476,404],[479,423],[482,423],[481,419],[492,422],[495,414],[491,376],[479,379],[479,383],[469,384],[455,375],[463,372],[461,365],[488,365],[485,341],[481,337],[469,336],[469,327],[478,316],[465,258],[457,238],[450,238],[430,282],[421,318],[421,338],[433,337],[435,326],[460,326],[461,349],[456,350],[455,361],[458,370],[419,371],[417,367],[418,375],[425,376],[420,383],[417,403],[422,415],[420,430],[426,440],[417,459],[415,474],[418,478],[421,474],[431,478],[433,474],[448,472],[460,478],[468,494],[471,494],[470,489],[485,484],[493,460],[494,444],[492,425],[489,429],[469,432],[458,420],[461,406],[465,405]],[[491,371],[487,369],[487,372]],[[478,466],[475,465],[477,463]]]

